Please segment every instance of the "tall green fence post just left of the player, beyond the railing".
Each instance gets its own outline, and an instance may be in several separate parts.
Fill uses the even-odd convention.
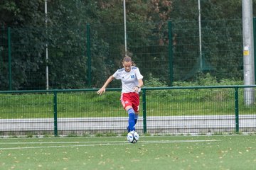
[[[88,79],[88,87],[91,87],[91,72],[92,72],[92,64],[91,64],[91,55],[90,55],[90,24],[86,24],[86,35],[87,35],[87,79]]]

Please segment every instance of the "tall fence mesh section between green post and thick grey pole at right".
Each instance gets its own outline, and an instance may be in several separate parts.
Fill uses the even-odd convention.
[[[218,79],[242,77],[242,20],[202,21],[201,37],[198,21],[173,25],[176,80],[193,79],[198,72]]]

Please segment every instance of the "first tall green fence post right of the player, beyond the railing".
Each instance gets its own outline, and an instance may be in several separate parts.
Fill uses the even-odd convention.
[[[174,69],[173,69],[173,36],[172,36],[172,28],[171,21],[168,21],[168,37],[169,37],[169,72],[170,72],[170,86],[173,86],[174,82]]]

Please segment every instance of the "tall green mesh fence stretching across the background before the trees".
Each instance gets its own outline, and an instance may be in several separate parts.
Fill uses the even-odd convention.
[[[0,35],[0,90],[98,88],[122,67],[123,24],[2,28]],[[240,80],[242,21],[202,21],[201,31],[198,21],[127,23],[127,54],[145,80],[166,85],[202,72]]]

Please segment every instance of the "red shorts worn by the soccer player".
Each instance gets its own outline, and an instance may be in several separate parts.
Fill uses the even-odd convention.
[[[135,112],[139,112],[139,94],[135,92],[122,93],[120,100],[124,108],[132,106]]]

